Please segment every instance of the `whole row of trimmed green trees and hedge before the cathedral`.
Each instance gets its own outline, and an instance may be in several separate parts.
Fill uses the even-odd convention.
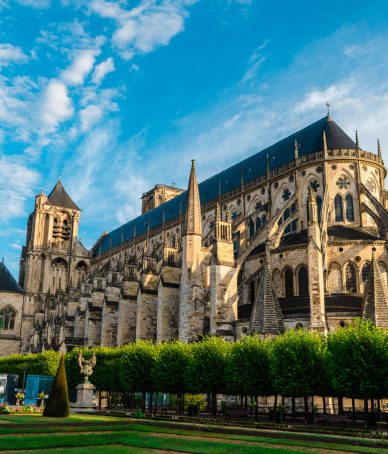
[[[80,383],[79,349],[66,354],[69,388]],[[206,393],[216,412],[217,394],[239,396],[282,395],[302,397],[305,411],[312,396],[368,400],[388,397],[388,333],[358,321],[323,336],[305,330],[289,330],[270,340],[248,336],[234,343],[219,337],[184,344],[137,341],[117,348],[85,349],[96,354],[91,377],[99,391],[164,392],[182,396]],[[40,363],[52,352],[32,355]],[[25,361],[19,356],[19,361]],[[57,359],[57,361],[59,358]],[[29,361],[31,361],[29,359]],[[0,359],[0,372],[18,373],[16,356]],[[34,369],[36,373],[36,368]],[[152,402],[152,399],[151,399]]]

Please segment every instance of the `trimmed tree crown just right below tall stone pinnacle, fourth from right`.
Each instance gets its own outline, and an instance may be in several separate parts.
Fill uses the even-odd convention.
[[[185,373],[188,390],[194,393],[225,391],[225,367],[230,344],[220,337],[207,337],[190,347],[191,355]]]

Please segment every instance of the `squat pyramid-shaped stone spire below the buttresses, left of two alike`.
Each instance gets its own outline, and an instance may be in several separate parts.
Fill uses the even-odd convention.
[[[268,263],[264,263],[261,271],[259,289],[249,323],[249,333],[272,335],[284,333],[283,315]]]

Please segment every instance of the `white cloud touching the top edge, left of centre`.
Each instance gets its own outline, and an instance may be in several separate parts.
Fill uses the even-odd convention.
[[[196,0],[164,0],[159,4],[142,0],[137,7],[126,10],[119,3],[93,0],[88,7],[101,17],[116,22],[112,41],[121,56],[129,60],[136,53],[145,54],[167,45],[182,32],[188,16],[187,6],[193,3]]]

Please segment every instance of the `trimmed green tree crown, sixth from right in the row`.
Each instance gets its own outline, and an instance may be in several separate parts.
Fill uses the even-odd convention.
[[[126,391],[147,392],[155,389],[152,369],[158,356],[158,346],[139,340],[122,348],[118,361],[118,376]]]

